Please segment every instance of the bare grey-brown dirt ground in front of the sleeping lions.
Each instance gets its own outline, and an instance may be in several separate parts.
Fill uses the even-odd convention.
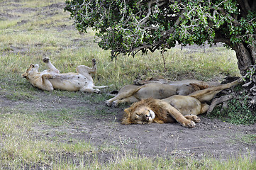
[[[201,116],[201,123],[196,124],[193,129],[184,128],[178,123],[121,125],[123,108],[108,108],[101,102],[91,103],[77,98],[49,96],[43,91],[39,92],[39,99],[36,101],[10,101],[4,92],[0,94],[1,107],[23,106],[27,111],[84,108],[83,115],[74,119],[68,126],[34,127],[38,134],[45,137],[54,137],[56,132],[65,132],[71,138],[91,142],[96,147],[113,145],[122,148],[123,153],[135,149],[147,157],[174,155],[196,159],[204,156],[227,159],[248,154],[255,157],[256,154],[255,144],[243,141],[244,136],[256,133],[256,125],[233,125],[208,119],[204,115]],[[104,110],[109,114],[104,114],[101,118],[99,115],[87,113],[88,109]],[[108,159],[108,156],[106,157]]]

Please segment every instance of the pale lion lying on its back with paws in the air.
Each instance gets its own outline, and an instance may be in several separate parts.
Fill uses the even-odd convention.
[[[99,93],[101,88],[107,86],[94,86],[94,81],[91,74],[95,74],[96,60],[92,60],[93,67],[84,65],[77,66],[77,72],[62,73],[50,62],[48,57],[43,59],[43,62],[49,69],[43,72],[38,72],[38,64],[30,64],[30,67],[21,77],[28,79],[30,84],[45,91],[60,89],[65,91],[84,91],[89,93]]]

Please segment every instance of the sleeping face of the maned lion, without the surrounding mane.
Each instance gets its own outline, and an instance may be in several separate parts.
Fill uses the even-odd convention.
[[[155,118],[155,113],[147,106],[138,106],[125,109],[123,124],[150,124]]]

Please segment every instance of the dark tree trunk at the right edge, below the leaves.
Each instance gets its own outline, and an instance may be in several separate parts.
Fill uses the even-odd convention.
[[[256,47],[240,42],[233,45],[232,48],[236,52],[240,74],[244,76],[247,69],[256,62]]]

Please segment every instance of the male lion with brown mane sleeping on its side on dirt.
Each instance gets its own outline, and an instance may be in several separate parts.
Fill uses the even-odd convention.
[[[162,100],[147,98],[133,103],[124,111],[122,124],[150,124],[178,122],[186,128],[194,128],[200,122],[197,115],[206,113],[209,106],[206,101],[223,89],[239,84],[241,78],[228,84],[213,86],[208,89],[195,91],[188,96],[174,95]]]

